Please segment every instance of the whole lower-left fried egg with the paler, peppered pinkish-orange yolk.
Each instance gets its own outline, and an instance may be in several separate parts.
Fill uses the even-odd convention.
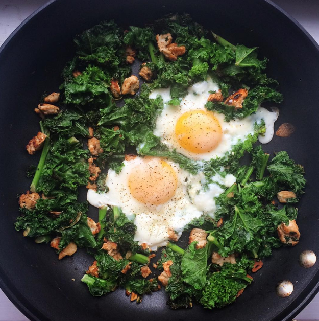
[[[109,169],[104,194],[89,190],[87,200],[95,207],[118,206],[137,227],[135,241],[152,250],[178,239],[186,224],[203,214],[214,217],[214,198],[236,178],[216,174],[204,189],[202,172],[192,175],[178,164],[159,157],[131,157],[119,174]]]

